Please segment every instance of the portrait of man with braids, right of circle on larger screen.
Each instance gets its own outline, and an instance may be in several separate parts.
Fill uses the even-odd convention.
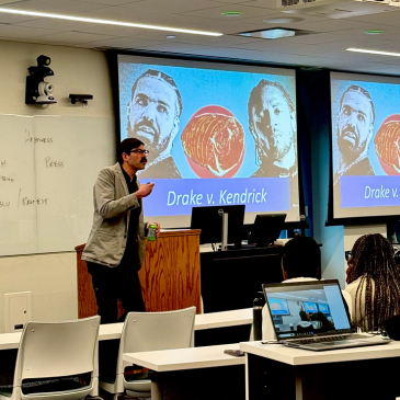
[[[263,79],[250,93],[248,112],[260,167],[252,178],[290,178],[292,198],[297,198],[297,122],[288,92],[279,82]]]

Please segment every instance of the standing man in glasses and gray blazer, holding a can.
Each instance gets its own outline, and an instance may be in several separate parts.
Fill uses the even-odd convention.
[[[94,184],[93,226],[82,260],[92,275],[102,323],[117,321],[118,299],[125,315],[146,311],[138,276],[145,239],[141,198],[151,194],[155,184],[140,185],[136,173],[145,169],[147,153],[140,140],[123,140],[118,162],[102,169]]]

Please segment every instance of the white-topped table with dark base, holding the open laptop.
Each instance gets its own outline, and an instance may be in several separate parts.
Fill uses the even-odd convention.
[[[247,400],[386,400],[400,396],[400,342],[312,352],[261,342],[247,353]]]

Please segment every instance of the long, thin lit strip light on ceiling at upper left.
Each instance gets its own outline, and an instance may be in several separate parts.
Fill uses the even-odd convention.
[[[41,16],[41,18],[52,18],[52,19],[56,19],[56,20],[89,22],[89,23],[93,23],[93,24],[103,24],[103,25],[141,27],[144,30],[190,33],[192,35],[205,35],[205,36],[222,36],[224,35],[222,33],[218,33],[218,32],[183,30],[183,28],[180,28],[180,27],[171,27],[171,26],[147,25],[147,24],[138,24],[138,23],[132,23],[132,22],[99,20],[99,19],[94,19],[94,18],[83,18],[83,16],[73,16],[73,15],[64,15],[64,14],[52,14],[52,13],[47,13],[47,12],[24,11],[24,10],[3,9],[3,8],[0,8],[0,13],[16,14],[16,15],[30,15],[30,16]]]

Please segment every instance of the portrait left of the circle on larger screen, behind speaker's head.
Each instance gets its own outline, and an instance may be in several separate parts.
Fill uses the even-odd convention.
[[[136,80],[128,104],[128,137],[139,138],[150,151],[140,178],[181,178],[171,157],[181,114],[181,94],[170,76],[149,69]]]

